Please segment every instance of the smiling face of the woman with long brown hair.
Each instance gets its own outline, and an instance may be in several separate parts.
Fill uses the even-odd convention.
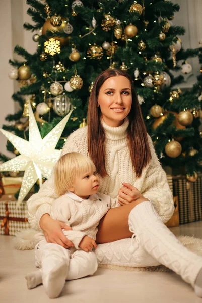
[[[111,127],[120,126],[132,105],[129,79],[124,76],[108,78],[100,87],[98,104],[104,122]]]

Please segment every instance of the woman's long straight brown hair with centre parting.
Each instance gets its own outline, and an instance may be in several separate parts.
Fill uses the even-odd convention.
[[[132,105],[128,114],[129,125],[127,128],[127,141],[130,150],[130,158],[136,176],[141,177],[142,170],[149,163],[151,151],[147,138],[147,131],[143,120],[141,107],[138,102],[133,83],[127,72],[118,69],[107,69],[99,74],[94,82],[88,104],[88,153],[97,172],[101,177],[107,176],[105,168],[105,131],[102,126],[100,107],[97,107],[97,99],[102,84],[110,77],[124,76],[130,81],[132,91]]]

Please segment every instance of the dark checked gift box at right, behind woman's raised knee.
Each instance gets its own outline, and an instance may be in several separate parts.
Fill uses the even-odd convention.
[[[202,220],[202,174],[188,184],[186,176],[173,176],[173,191],[179,200],[180,224]]]

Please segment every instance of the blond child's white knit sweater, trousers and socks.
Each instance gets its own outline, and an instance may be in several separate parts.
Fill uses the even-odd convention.
[[[36,266],[41,268],[42,282],[49,297],[57,297],[65,280],[93,275],[97,270],[97,258],[93,251],[85,252],[79,244],[84,236],[96,240],[100,219],[110,208],[119,206],[116,199],[105,194],[92,194],[82,199],[67,192],[53,202],[51,217],[64,222],[72,230],[63,230],[75,247],[66,249],[59,244],[47,243],[42,232],[35,235]],[[33,288],[33,274],[28,274],[28,288]]]

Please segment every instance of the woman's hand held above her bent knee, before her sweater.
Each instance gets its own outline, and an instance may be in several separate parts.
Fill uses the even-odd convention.
[[[142,199],[143,201],[148,200],[147,198],[144,198],[142,193],[136,187],[129,183],[122,184],[123,186],[121,186],[118,192],[118,202],[120,205],[125,205],[138,199]]]

